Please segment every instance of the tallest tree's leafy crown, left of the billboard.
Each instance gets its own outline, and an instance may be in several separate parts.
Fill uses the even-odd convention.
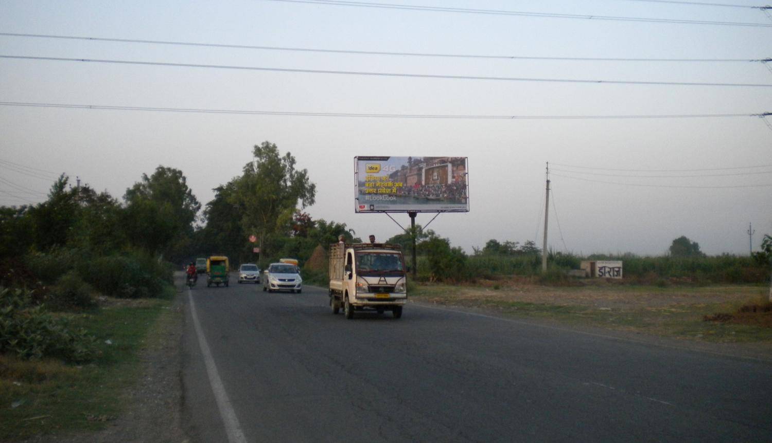
[[[230,203],[243,210],[242,230],[259,233],[262,243],[266,235],[279,233],[289,225],[299,202],[300,209],[313,205],[317,186],[308,179],[307,169],[295,169],[292,154],[279,156],[273,143],[254,146],[252,156],[253,161],[235,180]]]

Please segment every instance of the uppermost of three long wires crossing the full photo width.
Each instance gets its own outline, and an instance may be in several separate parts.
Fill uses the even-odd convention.
[[[351,49],[313,49],[313,48],[291,48],[286,46],[252,46],[252,45],[225,45],[218,43],[198,43],[198,42],[167,42],[162,40],[141,40],[141,39],[108,39],[102,37],[78,37],[73,35],[46,35],[46,34],[17,34],[12,32],[0,32],[0,35],[12,37],[35,37],[42,39],[70,39],[70,40],[90,40],[95,42],[121,42],[121,43],[144,43],[151,45],[184,45],[184,46],[203,46],[208,48],[231,48],[231,49],[261,49],[271,51],[299,51],[299,52],[324,52],[335,54],[357,54],[357,55],[406,55],[414,57],[451,57],[466,59],[507,59],[507,60],[557,60],[564,62],[772,62],[772,59],[642,59],[642,58],[611,58],[611,57],[533,57],[528,55],[478,55],[478,54],[445,54],[433,52],[391,52],[391,51],[356,51]]]

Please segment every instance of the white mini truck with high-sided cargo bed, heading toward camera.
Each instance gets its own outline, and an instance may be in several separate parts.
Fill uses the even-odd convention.
[[[391,310],[402,316],[408,302],[407,273],[401,248],[384,243],[330,245],[330,308],[343,308],[347,319],[355,310]]]

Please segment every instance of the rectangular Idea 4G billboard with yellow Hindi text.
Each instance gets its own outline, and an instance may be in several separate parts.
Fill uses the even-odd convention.
[[[357,213],[468,212],[466,157],[354,157]]]

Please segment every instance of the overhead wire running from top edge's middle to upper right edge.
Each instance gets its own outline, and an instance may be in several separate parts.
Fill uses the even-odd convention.
[[[574,18],[581,20],[604,20],[617,22],[648,22],[648,23],[668,23],[679,25],[726,25],[726,26],[752,26],[758,28],[769,28],[772,25],[765,23],[749,22],[718,22],[711,20],[683,20],[679,18],[646,18],[646,17],[618,17],[613,15],[577,15],[577,14],[557,14],[551,12],[522,12],[506,11],[499,9],[472,9],[472,8],[445,8],[439,6],[422,5],[399,5],[394,3],[373,3],[373,2],[343,2],[338,0],[269,0],[272,2],[286,3],[308,3],[311,5],[334,5],[334,6],[355,6],[360,8],[386,8],[403,9],[411,11],[431,11],[431,12],[460,12],[467,14],[485,14],[485,15],[516,15],[522,17],[540,17],[540,18]]]

